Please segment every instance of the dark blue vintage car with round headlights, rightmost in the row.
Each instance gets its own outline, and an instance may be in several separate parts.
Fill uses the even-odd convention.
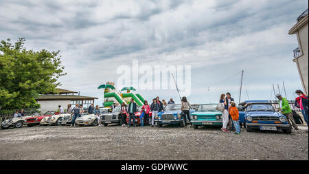
[[[292,127],[286,120],[286,117],[275,111],[273,105],[269,102],[246,101],[249,105],[244,110],[244,127],[247,131],[253,129],[277,131],[281,129],[284,133],[291,133]]]

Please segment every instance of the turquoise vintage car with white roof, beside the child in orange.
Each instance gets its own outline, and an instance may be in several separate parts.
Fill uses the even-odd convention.
[[[222,125],[222,113],[216,110],[217,104],[203,104],[199,105],[196,112],[191,114],[191,122],[194,129],[198,129],[198,126]]]

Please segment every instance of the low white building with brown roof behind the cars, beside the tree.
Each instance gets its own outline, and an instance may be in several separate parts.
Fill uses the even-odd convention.
[[[36,98],[38,104],[41,105],[40,111],[57,111],[58,106],[61,105],[63,109],[67,109],[67,105],[72,107],[79,103],[84,109],[87,109],[91,103],[94,103],[95,97],[74,95],[78,94],[76,91],[69,91],[66,89],[56,89],[57,94],[42,94]]]

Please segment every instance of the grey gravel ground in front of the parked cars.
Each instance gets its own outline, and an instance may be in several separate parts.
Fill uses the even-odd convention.
[[[0,146],[0,160],[308,160],[304,129],[23,127],[0,130]]]

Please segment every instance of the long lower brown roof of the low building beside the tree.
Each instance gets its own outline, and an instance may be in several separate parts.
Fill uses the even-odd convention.
[[[98,99],[96,97],[89,97],[89,96],[76,96],[76,95],[40,95],[36,100],[43,101],[43,100],[94,100]]]

